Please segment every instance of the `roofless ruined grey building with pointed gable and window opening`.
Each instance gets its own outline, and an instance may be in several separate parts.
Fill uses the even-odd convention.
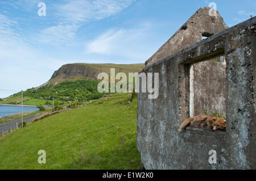
[[[158,98],[138,94],[137,146],[146,169],[256,169],[256,18],[228,28],[209,11],[191,16],[142,70],[159,73]],[[226,118],[226,132],[178,132],[180,121],[206,110]],[[210,150],[217,163],[208,162]]]

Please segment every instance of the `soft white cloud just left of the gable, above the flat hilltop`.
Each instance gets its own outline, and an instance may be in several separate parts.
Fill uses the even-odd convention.
[[[152,53],[147,49],[150,24],[132,29],[108,30],[85,44],[85,53],[118,55],[137,60],[146,59]],[[143,46],[144,44],[144,46]]]

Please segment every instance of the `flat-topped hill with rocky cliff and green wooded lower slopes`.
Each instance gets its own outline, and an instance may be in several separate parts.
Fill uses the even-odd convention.
[[[93,100],[106,93],[97,91],[97,75],[105,72],[110,75],[110,68],[119,72],[135,73],[144,68],[144,64],[67,64],[56,70],[44,85],[24,91],[23,100],[27,105],[51,104],[59,102]],[[21,104],[21,92],[0,101],[3,104]]]

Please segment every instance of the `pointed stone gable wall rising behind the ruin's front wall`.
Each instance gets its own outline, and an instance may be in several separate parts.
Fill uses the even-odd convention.
[[[209,7],[200,8],[181,28],[146,62],[151,65],[176,53],[179,50],[190,47],[202,40],[228,28],[217,11],[212,13]]]

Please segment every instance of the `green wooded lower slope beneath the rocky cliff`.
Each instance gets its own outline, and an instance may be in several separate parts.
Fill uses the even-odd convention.
[[[23,104],[45,105],[52,104],[52,100],[58,100],[60,104],[68,101],[86,101],[101,98],[106,93],[97,91],[99,81],[81,80],[65,81],[56,86],[46,85],[39,89],[28,89],[23,92]],[[21,92],[4,99],[0,103],[21,104]]]

